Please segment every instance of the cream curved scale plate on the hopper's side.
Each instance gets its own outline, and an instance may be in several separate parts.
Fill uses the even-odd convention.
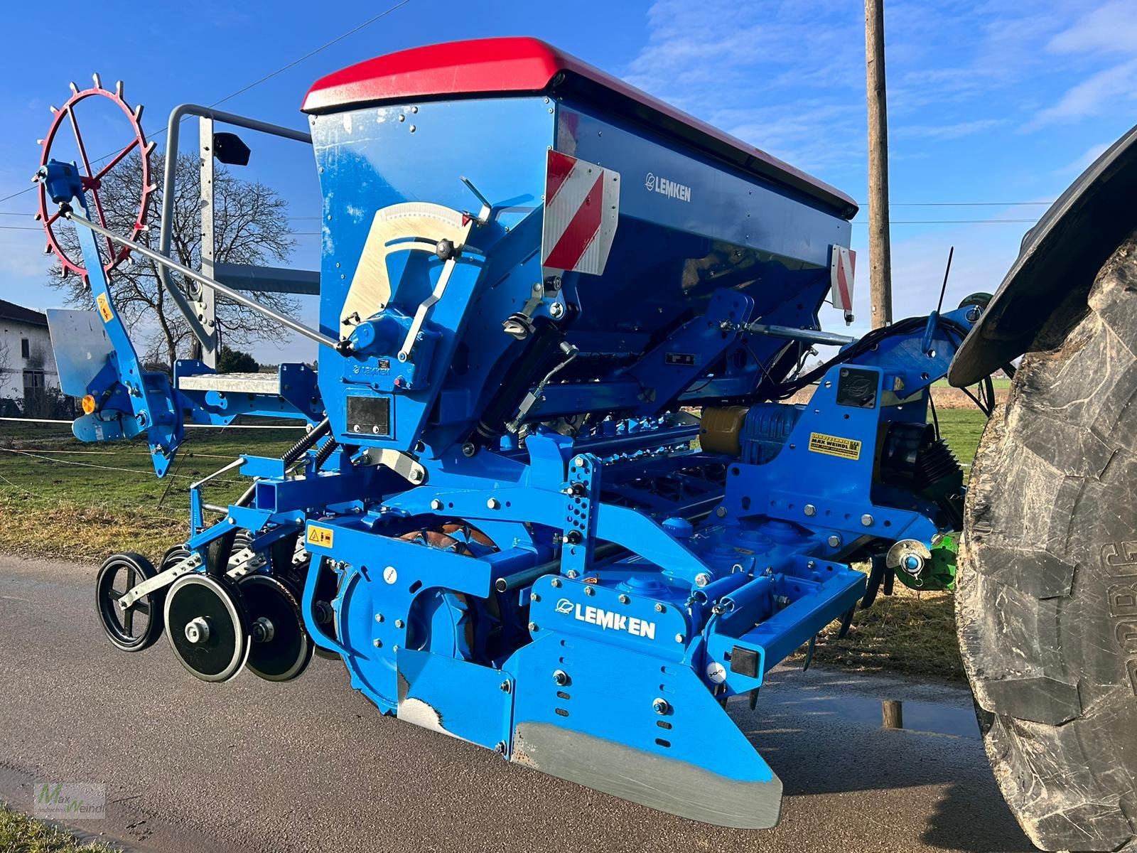
[[[377,210],[343,300],[340,334],[345,338],[351,334],[355,322],[348,322],[352,314],[366,320],[387,308],[391,301],[392,288],[387,268],[389,255],[412,249],[433,255],[440,240],[463,246],[473,226],[473,220],[463,222],[464,218],[457,210],[428,201],[405,201]]]

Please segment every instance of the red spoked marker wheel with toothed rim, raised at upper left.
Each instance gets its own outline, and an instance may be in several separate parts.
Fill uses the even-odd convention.
[[[142,105],[140,103],[138,107],[131,108],[131,106],[123,98],[122,81],[118,81],[115,84],[114,91],[102,88],[102,82],[99,80],[98,74],[93,75],[93,81],[94,85],[90,89],[80,89],[77,85],[72,83],[70,98],[67,99],[63,107],[51,107],[51,113],[53,115],[51,127],[48,130],[48,135],[40,140],[40,165],[45,166],[48,162],[52,159],[51,147],[56,140],[56,134],[58,134],[60,129],[65,125],[69,126],[75,136],[75,146],[78,148],[81,159],[80,167],[84,173],[81,176],[83,189],[90,193],[91,200],[94,202],[94,215],[98,218],[99,224],[105,229],[109,229],[110,226],[107,224],[107,216],[102,207],[102,199],[99,198],[99,189],[102,185],[102,180],[107,176],[110,169],[122,163],[123,159],[125,159],[130,154],[138,151],[142,160],[142,192],[141,198],[139,199],[138,216],[131,225],[130,232],[123,234],[123,237],[130,240],[135,240],[138,235],[146,230],[146,218],[147,210],[150,207],[150,196],[157,189],[150,182],[150,152],[153,150],[153,142],[148,143],[146,141],[146,133],[142,131]],[[123,115],[126,116],[126,121],[130,123],[131,133],[133,135],[125,148],[109,158],[102,158],[106,160],[106,165],[100,165],[102,160],[94,164],[99,166],[98,172],[94,171],[90,157],[88,156],[86,146],[83,142],[83,134],[80,131],[78,118],[75,115],[75,107],[89,98],[106,98],[113,103],[116,103],[119,109],[122,109]],[[52,231],[52,225],[59,218],[60,213],[58,210],[52,214],[48,213],[47,188],[42,182],[40,183],[39,192],[40,212],[35,215],[35,218],[43,223],[43,230],[47,233],[48,245],[44,248],[44,254],[56,254],[56,257],[59,258],[59,264],[63,267],[64,276],[75,274],[85,279],[86,268],[67,256],[67,252],[64,250],[58,238]],[[110,238],[106,238],[106,240],[108,260],[103,266],[103,272],[109,274],[116,266],[130,257],[131,249],[128,246],[116,246]]]

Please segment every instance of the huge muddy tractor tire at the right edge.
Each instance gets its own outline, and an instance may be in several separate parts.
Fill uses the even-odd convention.
[[[1137,232],[1023,357],[972,467],[956,623],[995,777],[1048,851],[1137,851]]]

